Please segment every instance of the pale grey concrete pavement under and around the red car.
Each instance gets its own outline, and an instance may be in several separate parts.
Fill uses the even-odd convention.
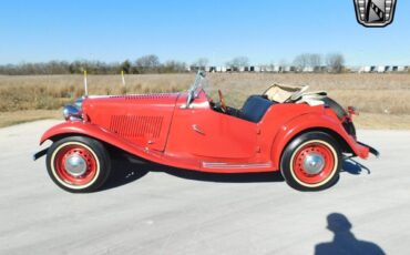
[[[117,174],[104,191],[71,194],[49,178],[44,157],[31,159],[54,123],[0,129],[0,254],[410,248],[410,132],[360,130],[358,137],[381,157],[358,161],[370,173],[346,162],[340,181],[318,193],[294,191],[278,175],[201,174],[116,161]]]

